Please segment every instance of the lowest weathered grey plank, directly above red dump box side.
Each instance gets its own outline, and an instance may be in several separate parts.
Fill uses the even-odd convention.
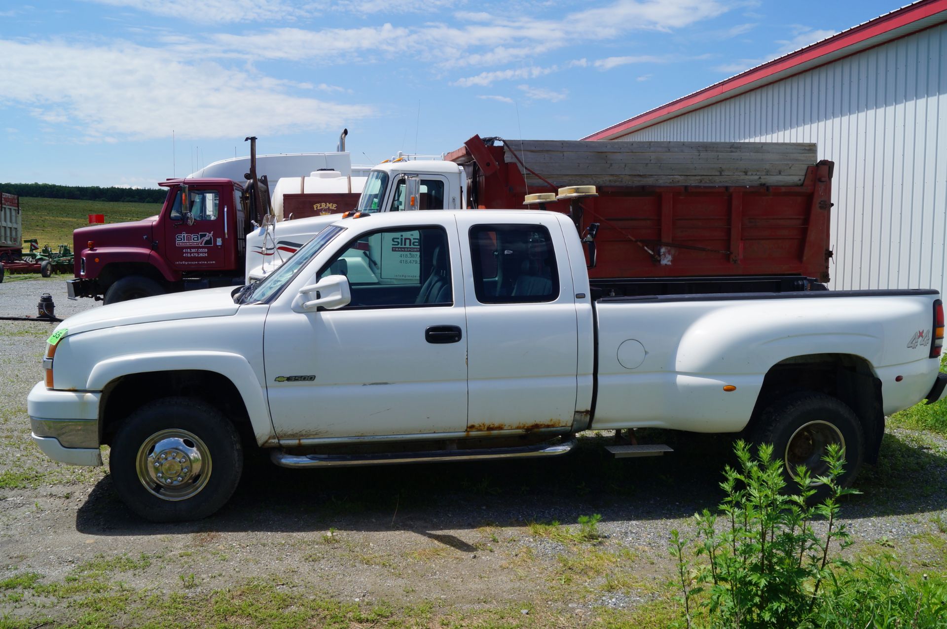
[[[732,175],[771,177],[806,176],[805,164],[535,164],[527,166],[544,177],[558,175]],[[523,172],[523,168],[520,168]]]

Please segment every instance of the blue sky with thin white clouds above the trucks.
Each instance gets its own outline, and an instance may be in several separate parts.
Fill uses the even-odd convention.
[[[474,133],[576,139],[898,7],[0,0],[0,182],[152,187],[247,135],[323,151],[343,127],[363,164]]]

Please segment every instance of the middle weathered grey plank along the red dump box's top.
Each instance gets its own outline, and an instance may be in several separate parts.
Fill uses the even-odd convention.
[[[517,151],[517,155],[528,165],[531,164],[694,164],[713,162],[718,164],[805,164],[812,166],[813,161],[804,159],[798,153],[727,153],[727,152],[630,152],[616,151],[563,151],[563,150],[527,150]],[[507,164],[519,164],[512,153],[506,151],[504,161]]]

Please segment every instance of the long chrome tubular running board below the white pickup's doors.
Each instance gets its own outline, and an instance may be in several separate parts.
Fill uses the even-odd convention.
[[[404,463],[443,463],[484,461],[487,459],[535,459],[568,454],[576,446],[570,439],[561,444],[491,447],[477,450],[431,450],[426,452],[378,452],[372,454],[292,454],[274,450],[270,455],[280,467],[351,467],[356,465],[401,465]]]

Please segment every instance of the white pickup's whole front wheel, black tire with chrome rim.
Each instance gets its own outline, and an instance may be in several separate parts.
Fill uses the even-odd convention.
[[[223,507],[240,481],[240,435],[221,411],[187,397],[134,411],[112,442],[118,497],[152,522],[185,522]]]

